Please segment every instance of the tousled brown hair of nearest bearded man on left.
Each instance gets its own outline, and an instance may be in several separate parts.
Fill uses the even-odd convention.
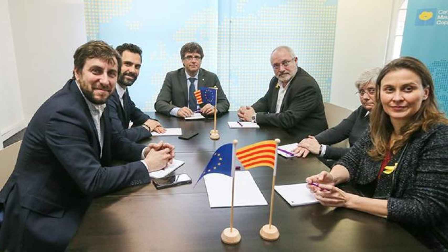
[[[115,58],[118,63],[118,73],[121,73],[122,61],[120,54],[102,40],[91,40],[78,47],[73,55],[74,68],[77,69],[77,71],[82,71],[86,60],[94,58],[105,60],[108,64],[112,65],[115,64],[115,61],[113,60],[113,58]],[[76,79],[74,71],[72,79]]]

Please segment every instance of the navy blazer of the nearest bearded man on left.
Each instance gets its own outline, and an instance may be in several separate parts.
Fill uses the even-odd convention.
[[[101,117],[103,152],[76,82],[69,80],[34,114],[12,175],[0,191],[0,251],[64,251],[96,196],[149,183],[145,145],[112,134]],[[101,154],[101,155],[100,155]],[[113,158],[130,162],[108,167]]]

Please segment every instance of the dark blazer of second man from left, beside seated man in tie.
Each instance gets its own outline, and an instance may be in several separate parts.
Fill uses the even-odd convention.
[[[109,107],[109,115],[111,117],[112,127],[130,141],[137,142],[144,138],[151,137],[151,132],[146,128],[140,127],[151,119],[148,115],[143,113],[138,107],[135,107],[134,102],[129,96],[128,89],[123,95],[123,104],[125,109],[121,107],[120,97],[115,90],[107,101]],[[129,128],[129,121],[132,121],[132,128]]]

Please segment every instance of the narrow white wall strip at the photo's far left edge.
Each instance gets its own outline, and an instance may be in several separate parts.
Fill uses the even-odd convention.
[[[24,127],[22,98],[14,54],[8,0],[0,0],[0,149],[3,141]]]

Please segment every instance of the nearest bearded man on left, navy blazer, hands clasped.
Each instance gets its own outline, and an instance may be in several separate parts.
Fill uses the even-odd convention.
[[[120,73],[116,50],[90,41],[73,58],[73,78],[34,114],[0,191],[0,251],[64,251],[94,197],[149,183],[174,158],[172,145],[113,132],[105,103]]]

